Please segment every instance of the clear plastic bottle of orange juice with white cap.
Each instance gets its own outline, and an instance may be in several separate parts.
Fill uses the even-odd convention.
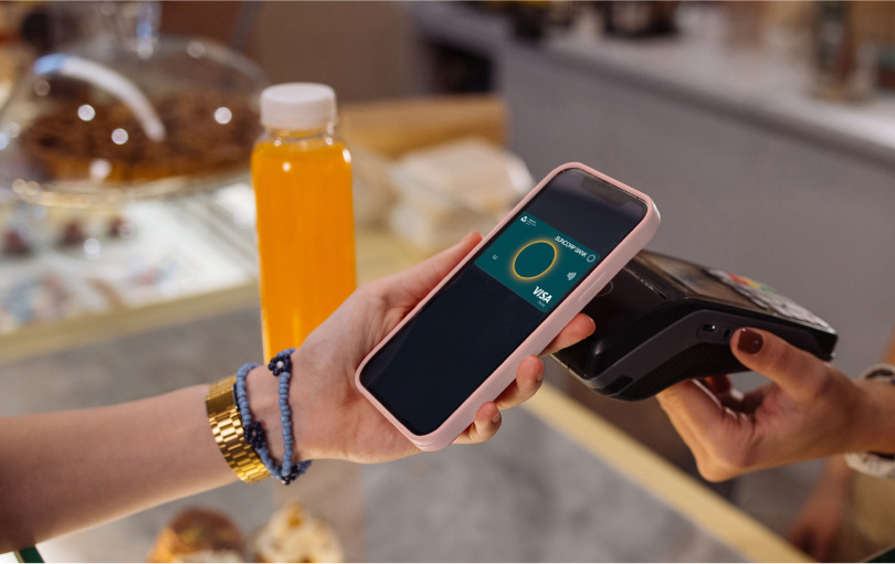
[[[264,357],[298,347],[355,289],[351,158],[336,95],[293,83],[261,95],[252,152]]]

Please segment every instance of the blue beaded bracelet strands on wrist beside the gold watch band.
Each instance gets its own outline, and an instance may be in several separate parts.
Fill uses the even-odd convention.
[[[267,434],[261,425],[261,422],[252,421],[252,412],[249,408],[249,397],[245,392],[245,377],[253,369],[259,366],[253,362],[243,364],[236,371],[236,383],[234,384],[234,395],[236,397],[236,406],[240,411],[240,419],[242,421],[245,439],[252,445],[252,448],[257,453],[259,458],[271,472],[271,476],[276,477],[284,485],[288,486],[291,482],[304,475],[310,466],[310,460],[303,460],[298,464],[292,462],[292,457],[295,454],[295,440],[292,434],[292,408],[288,404],[289,382],[292,381],[292,359],[291,354],[295,349],[287,349],[277,353],[276,357],[271,359],[268,363],[270,370],[274,376],[280,377],[280,386],[277,390],[280,396],[280,422],[283,424],[283,461],[277,465],[271,451],[267,448]]]

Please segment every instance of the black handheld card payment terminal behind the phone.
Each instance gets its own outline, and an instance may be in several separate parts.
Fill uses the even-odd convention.
[[[832,327],[772,288],[717,268],[640,252],[583,309],[591,337],[554,354],[600,394],[651,397],[682,380],[743,372],[729,349],[741,327],[770,331],[822,359]]]

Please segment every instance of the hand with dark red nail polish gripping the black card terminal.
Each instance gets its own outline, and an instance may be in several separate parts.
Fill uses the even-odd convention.
[[[737,331],[730,348],[746,368],[771,382],[741,394],[727,376],[716,376],[659,394],[706,479],[852,450],[895,450],[895,386],[853,382],[758,329]]]

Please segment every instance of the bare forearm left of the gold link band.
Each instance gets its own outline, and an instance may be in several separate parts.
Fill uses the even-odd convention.
[[[0,553],[234,481],[207,392],[0,419]]]

